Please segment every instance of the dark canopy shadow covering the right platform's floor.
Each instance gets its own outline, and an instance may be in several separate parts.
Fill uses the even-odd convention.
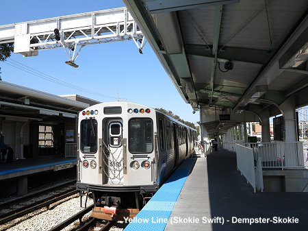
[[[236,166],[235,153],[207,155],[209,212],[224,217],[224,225],[213,223],[211,230],[307,230],[308,193],[253,193]]]

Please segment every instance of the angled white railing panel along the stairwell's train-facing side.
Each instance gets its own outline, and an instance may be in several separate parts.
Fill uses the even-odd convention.
[[[257,189],[255,182],[255,162],[253,157],[253,148],[236,144],[235,150],[238,170],[241,172],[241,175],[244,175],[247,183],[253,186],[253,191],[256,192]]]

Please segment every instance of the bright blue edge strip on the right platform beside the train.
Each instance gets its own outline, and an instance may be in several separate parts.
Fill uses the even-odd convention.
[[[134,217],[125,231],[164,230],[196,158],[188,158]]]

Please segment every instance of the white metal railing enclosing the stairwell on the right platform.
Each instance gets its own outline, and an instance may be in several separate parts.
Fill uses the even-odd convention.
[[[262,169],[305,168],[302,142],[224,144],[225,149],[234,146],[238,170],[253,186],[254,192],[264,189]]]

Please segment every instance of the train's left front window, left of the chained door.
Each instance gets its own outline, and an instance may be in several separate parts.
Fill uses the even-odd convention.
[[[80,149],[82,152],[97,152],[97,120],[85,119],[80,123]]]

